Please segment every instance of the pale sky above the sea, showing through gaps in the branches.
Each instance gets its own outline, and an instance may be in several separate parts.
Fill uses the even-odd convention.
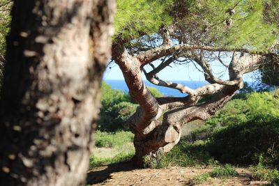
[[[158,65],[158,63],[155,65]],[[184,64],[184,65],[175,65],[172,64],[172,67],[167,67],[162,70],[158,76],[160,79],[164,80],[179,80],[179,81],[204,81],[204,75],[202,72],[197,70],[193,63]],[[228,72],[226,68],[220,63],[211,63],[211,68],[213,69],[214,75],[220,77],[220,79],[227,80],[229,79]],[[149,72],[151,68],[146,68],[146,71]],[[243,76],[245,82],[252,82],[254,74],[249,73]],[[143,78],[146,79],[143,75]],[[118,65],[115,63],[105,70],[103,79],[124,79],[122,72]]]

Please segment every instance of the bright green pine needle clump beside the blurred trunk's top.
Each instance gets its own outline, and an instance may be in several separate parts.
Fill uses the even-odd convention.
[[[172,0],[117,0],[115,37],[133,40],[158,32],[160,26],[172,23],[172,17],[168,14],[172,3]]]

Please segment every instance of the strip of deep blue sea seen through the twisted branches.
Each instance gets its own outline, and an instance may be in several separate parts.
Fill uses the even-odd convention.
[[[112,88],[114,89],[120,89],[126,93],[128,93],[128,87],[126,85],[126,82],[124,80],[116,80],[116,79],[105,79],[105,82],[107,84],[109,84],[110,86],[112,86]],[[198,88],[199,86],[204,86],[206,84],[206,82],[188,82],[188,81],[170,81],[170,82],[174,82],[174,83],[179,83],[179,84],[184,84],[190,88]],[[185,96],[185,94],[180,93],[179,91],[173,89],[173,88],[166,88],[163,86],[156,86],[154,84],[151,84],[148,81],[144,81],[144,84],[146,84],[146,86],[151,86],[154,88],[157,88],[158,91],[160,91],[160,93],[163,93],[164,95],[172,95],[172,96]],[[208,83],[207,83],[208,84]]]

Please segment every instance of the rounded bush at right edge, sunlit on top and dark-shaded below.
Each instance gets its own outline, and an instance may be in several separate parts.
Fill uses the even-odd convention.
[[[232,100],[206,125],[213,128],[207,145],[223,163],[279,164],[279,99],[273,93],[251,93],[247,100]],[[218,126],[218,127],[216,127]]]

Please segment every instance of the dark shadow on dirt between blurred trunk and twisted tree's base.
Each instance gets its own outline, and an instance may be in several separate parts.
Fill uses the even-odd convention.
[[[121,171],[132,171],[134,169],[136,169],[136,167],[132,161],[96,167],[89,170],[89,172],[87,173],[86,183],[87,185],[103,183],[105,180],[112,178],[112,173]]]

